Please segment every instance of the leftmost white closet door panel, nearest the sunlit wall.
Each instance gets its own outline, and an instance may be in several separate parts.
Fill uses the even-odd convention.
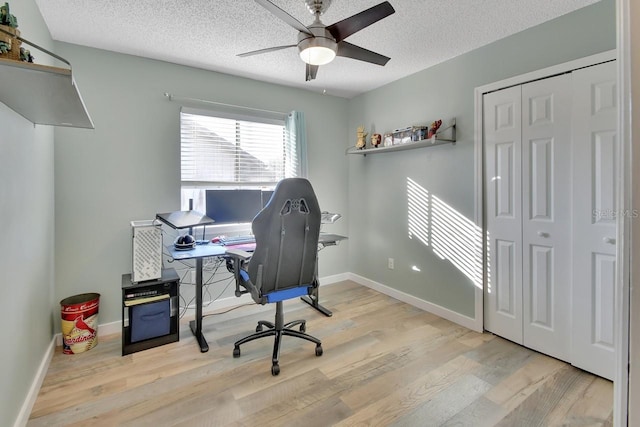
[[[487,266],[484,326],[522,344],[520,87],[484,96]]]

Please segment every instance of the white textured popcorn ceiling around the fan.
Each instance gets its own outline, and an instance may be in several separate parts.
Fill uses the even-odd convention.
[[[333,0],[333,24],[382,0]],[[347,41],[391,57],[381,67],[348,58],[305,81],[297,31],[252,0],[36,0],[55,40],[351,98],[599,0],[389,0],[396,13]],[[298,21],[304,0],[272,0]]]

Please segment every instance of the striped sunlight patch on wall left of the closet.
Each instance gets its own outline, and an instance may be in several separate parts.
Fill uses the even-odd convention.
[[[482,288],[482,229],[407,178],[408,233]]]

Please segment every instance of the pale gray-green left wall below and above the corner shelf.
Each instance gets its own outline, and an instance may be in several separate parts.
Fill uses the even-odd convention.
[[[11,6],[24,37],[50,47],[35,3]],[[53,129],[34,126],[2,103],[0,129],[0,425],[9,426],[46,354],[59,310],[53,297]]]

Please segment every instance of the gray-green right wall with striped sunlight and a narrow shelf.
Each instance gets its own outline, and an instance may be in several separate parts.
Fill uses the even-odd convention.
[[[595,30],[597,29],[597,31]],[[615,3],[603,0],[370,91],[349,103],[351,137],[457,120],[455,145],[349,156],[349,270],[466,316],[474,316],[474,282],[461,270],[481,262],[474,252],[474,88],[594,53],[615,49]],[[434,246],[408,236],[407,179],[448,205],[434,218]],[[466,221],[463,218],[466,218]],[[457,224],[461,235],[442,242],[435,231]],[[367,250],[361,250],[367,248]],[[464,261],[456,261],[456,256]],[[387,269],[387,258],[395,270]],[[420,272],[413,271],[418,266]]]

